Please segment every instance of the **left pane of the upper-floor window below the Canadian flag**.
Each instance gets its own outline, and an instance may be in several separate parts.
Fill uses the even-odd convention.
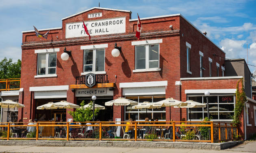
[[[136,69],[146,68],[146,46],[136,47]]]

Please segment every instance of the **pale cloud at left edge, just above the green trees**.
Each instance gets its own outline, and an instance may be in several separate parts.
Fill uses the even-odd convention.
[[[7,59],[12,58],[13,62],[17,62],[18,59],[21,60],[22,57],[22,49],[21,47],[9,46],[0,49],[0,60],[3,60],[4,57]]]

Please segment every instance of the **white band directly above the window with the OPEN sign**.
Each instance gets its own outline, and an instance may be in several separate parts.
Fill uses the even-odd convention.
[[[205,91],[209,91],[210,94],[234,94],[236,89],[195,89],[185,90],[185,94],[204,94]]]

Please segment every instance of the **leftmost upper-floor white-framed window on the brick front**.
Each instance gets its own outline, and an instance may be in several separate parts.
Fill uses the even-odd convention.
[[[56,74],[56,61],[57,53],[38,53],[37,76],[51,76]]]

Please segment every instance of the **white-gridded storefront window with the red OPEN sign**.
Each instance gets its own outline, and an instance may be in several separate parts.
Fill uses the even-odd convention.
[[[187,100],[207,104],[206,96],[187,96]],[[213,120],[231,121],[230,115],[234,114],[234,95],[209,96],[209,115]],[[191,108],[191,120],[200,121],[207,117],[207,106],[205,108]],[[190,120],[189,108],[187,108],[188,121]]]

